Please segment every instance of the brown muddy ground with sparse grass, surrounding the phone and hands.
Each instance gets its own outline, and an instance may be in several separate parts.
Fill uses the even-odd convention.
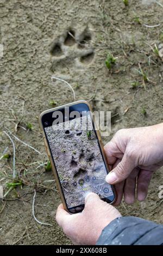
[[[129,0],[125,7],[120,0],[1,0],[0,141],[1,155],[7,147],[11,155],[0,163],[4,194],[9,191],[7,182],[13,181],[13,149],[3,131],[41,153],[14,139],[17,179],[23,185],[1,199],[1,244],[71,243],[54,220],[60,198],[53,174],[41,165],[47,155],[39,114],[52,105],[73,101],[71,90],[59,81],[52,83],[52,75],[70,82],[77,100],[89,100],[97,111],[112,112],[111,135],[103,138],[104,143],[123,127],[163,121],[162,59],[152,50],[154,44],[163,43],[163,1],[158,2],[161,5],[153,0]],[[117,58],[111,70],[105,66],[108,52]],[[145,76],[137,71],[140,68]],[[163,223],[160,185],[161,170],[153,176],[146,201],[132,206],[122,203],[122,215]],[[35,222],[34,190],[35,215],[52,226]]]

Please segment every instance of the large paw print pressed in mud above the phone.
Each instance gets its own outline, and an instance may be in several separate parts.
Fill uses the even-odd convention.
[[[88,65],[95,56],[95,50],[91,46],[92,32],[85,28],[82,33],[75,29],[68,29],[52,42],[50,53],[52,57],[51,70]]]

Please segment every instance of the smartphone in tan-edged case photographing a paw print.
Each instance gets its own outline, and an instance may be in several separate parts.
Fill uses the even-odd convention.
[[[81,212],[88,192],[114,203],[116,190],[105,181],[109,166],[89,103],[49,109],[41,113],[39,123],[65,210]]]

